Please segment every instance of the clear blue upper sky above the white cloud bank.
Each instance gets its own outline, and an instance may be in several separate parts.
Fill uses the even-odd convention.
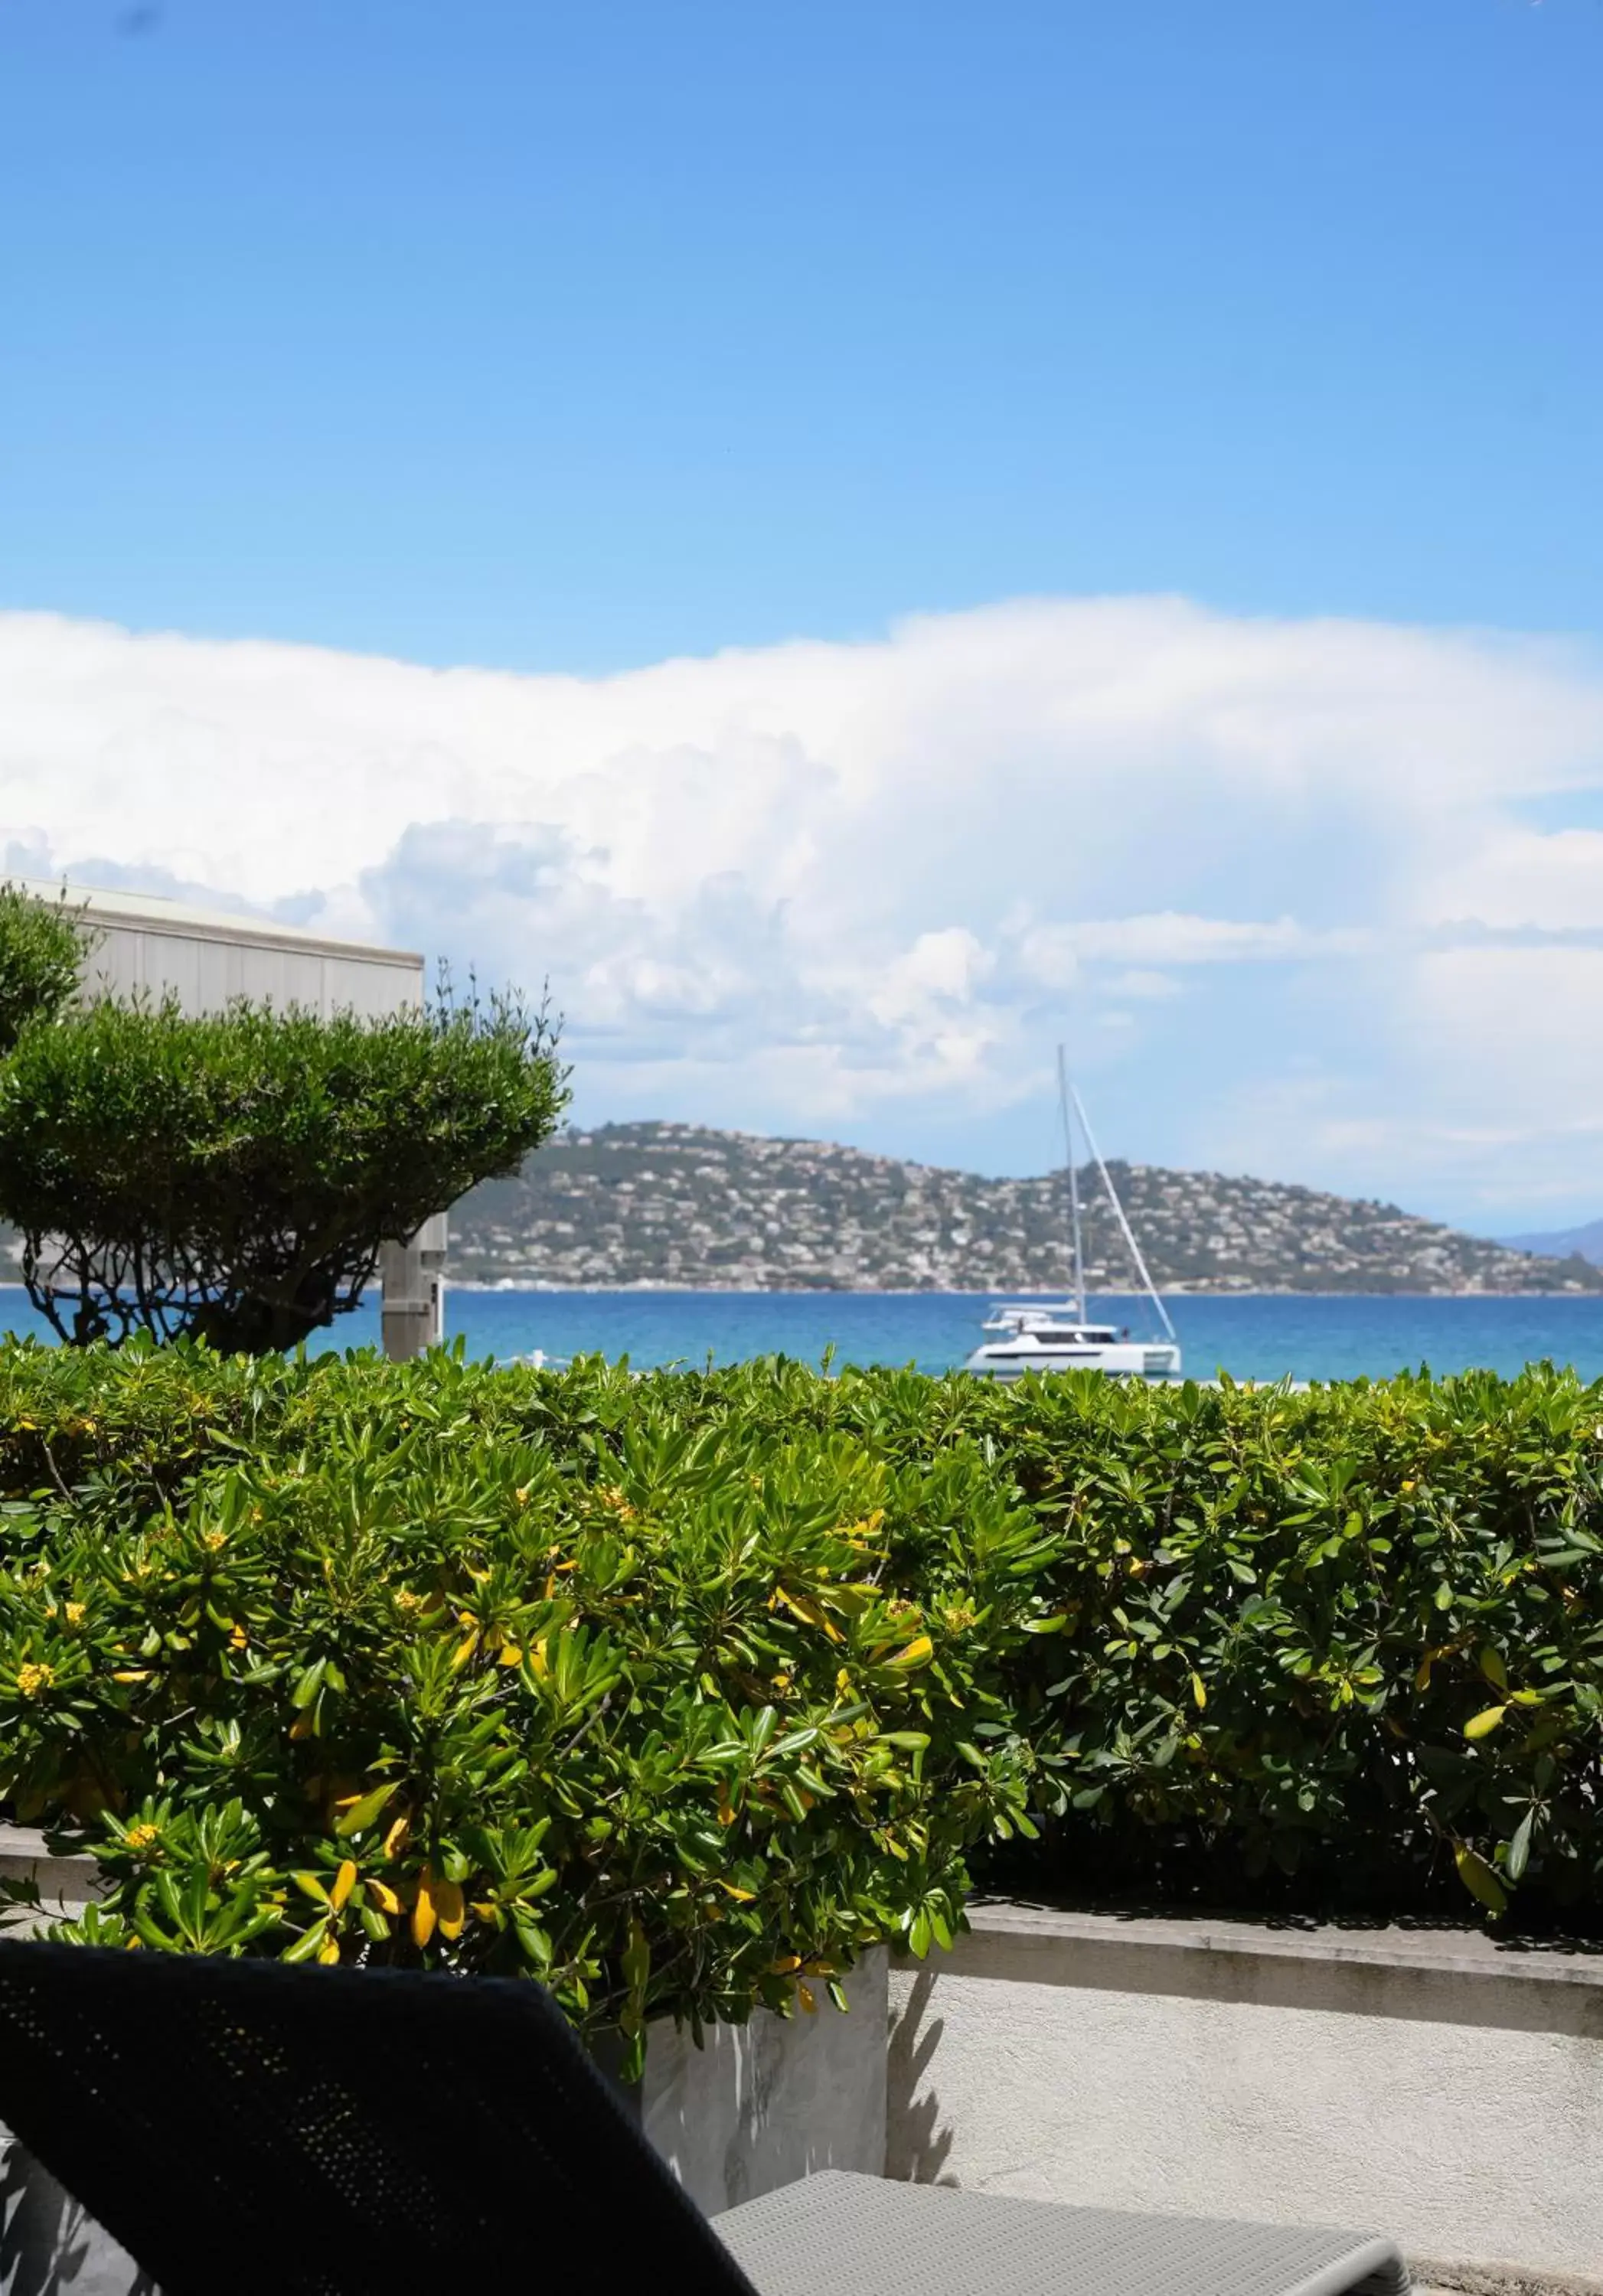
[[[1596,0],[0,0],[0,595],[622,668],[1603,618]]]

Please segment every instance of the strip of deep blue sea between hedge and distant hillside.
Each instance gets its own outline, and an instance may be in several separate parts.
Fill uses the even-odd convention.
[[[988,1293],[717,1293],[717,1290],[468,1290],[446,1293],[446,1334],[468,1357],[604,1355],[636,1368],[735,1364],[788,1355],[804,1364],[912,1364],[955,1371],[978,1345]],[[1022,1297],[1022,1295],[1010,1295]],[[1054,1297],[1061,1297],[1054,1295]],[[1603,1295],[1456,1297],[1412,1295],[1194,1295],[1171,1297],[1169,1316],[1190,1378],[1385,1380],[1399,1371],[1497,1371],[1571,1364],[1603,1378]],[[1114,1293],[1089,1309],[1098,1322],[1157,1336],[1151,1304]],[[0,1318],[16,1334],[48,1339],[18,1286],[0,1286]],[[379,1343],[379,1311],[363,1304],[308,1341],[326,1348]]]

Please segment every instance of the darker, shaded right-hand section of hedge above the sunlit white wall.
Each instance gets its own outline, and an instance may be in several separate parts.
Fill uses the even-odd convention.
[[[1603,1391],[1550,1371],[1043,1398],[1010,1469],[1063,1642],[1013,1671],[1118,1880],[1525,1919],[1603,1878]],[[1045,1653],[1043,1653],[1045,1655]]]

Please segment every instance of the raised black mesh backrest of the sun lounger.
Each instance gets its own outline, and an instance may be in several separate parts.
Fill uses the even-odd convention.
[[[0,2122],[163,2296],[753,2296],[533,1981],[2,1940]]]

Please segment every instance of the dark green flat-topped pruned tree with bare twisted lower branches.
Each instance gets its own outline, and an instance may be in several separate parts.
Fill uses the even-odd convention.
[[[549,1139],[556,1038],[544,1008],[448,983],[379,1019],[46,996],[0,1063],[28,1293],[73,1343],[294,1348],[358,1304],[381,1244]]]

